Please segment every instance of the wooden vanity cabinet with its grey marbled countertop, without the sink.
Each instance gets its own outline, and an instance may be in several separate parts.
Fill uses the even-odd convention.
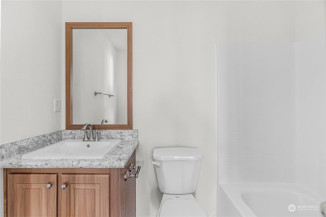
[[[124,139],[102,159],[23,159],[25,146],[2,160],[4,216],[135,216],[135,178],[125,175],[136,173],[138,140]]]

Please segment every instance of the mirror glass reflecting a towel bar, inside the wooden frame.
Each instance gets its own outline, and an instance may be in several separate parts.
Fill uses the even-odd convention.
[[[127,30],[73,29],[72,56],[73,124],[126,124]]]

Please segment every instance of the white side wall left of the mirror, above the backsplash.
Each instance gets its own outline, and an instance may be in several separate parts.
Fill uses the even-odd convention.
[[[1,16],[1,143],[62,129],[61,2],[2,1]]]

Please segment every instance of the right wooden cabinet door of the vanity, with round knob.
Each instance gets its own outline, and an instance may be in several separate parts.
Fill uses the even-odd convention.
[[[62,216],[110,216],[109,174],[62,174],[61,184]]]

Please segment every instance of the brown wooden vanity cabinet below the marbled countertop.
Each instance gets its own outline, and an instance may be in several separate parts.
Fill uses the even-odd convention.
[[[135,216],[124,169],[4,169],[4,216]]]

